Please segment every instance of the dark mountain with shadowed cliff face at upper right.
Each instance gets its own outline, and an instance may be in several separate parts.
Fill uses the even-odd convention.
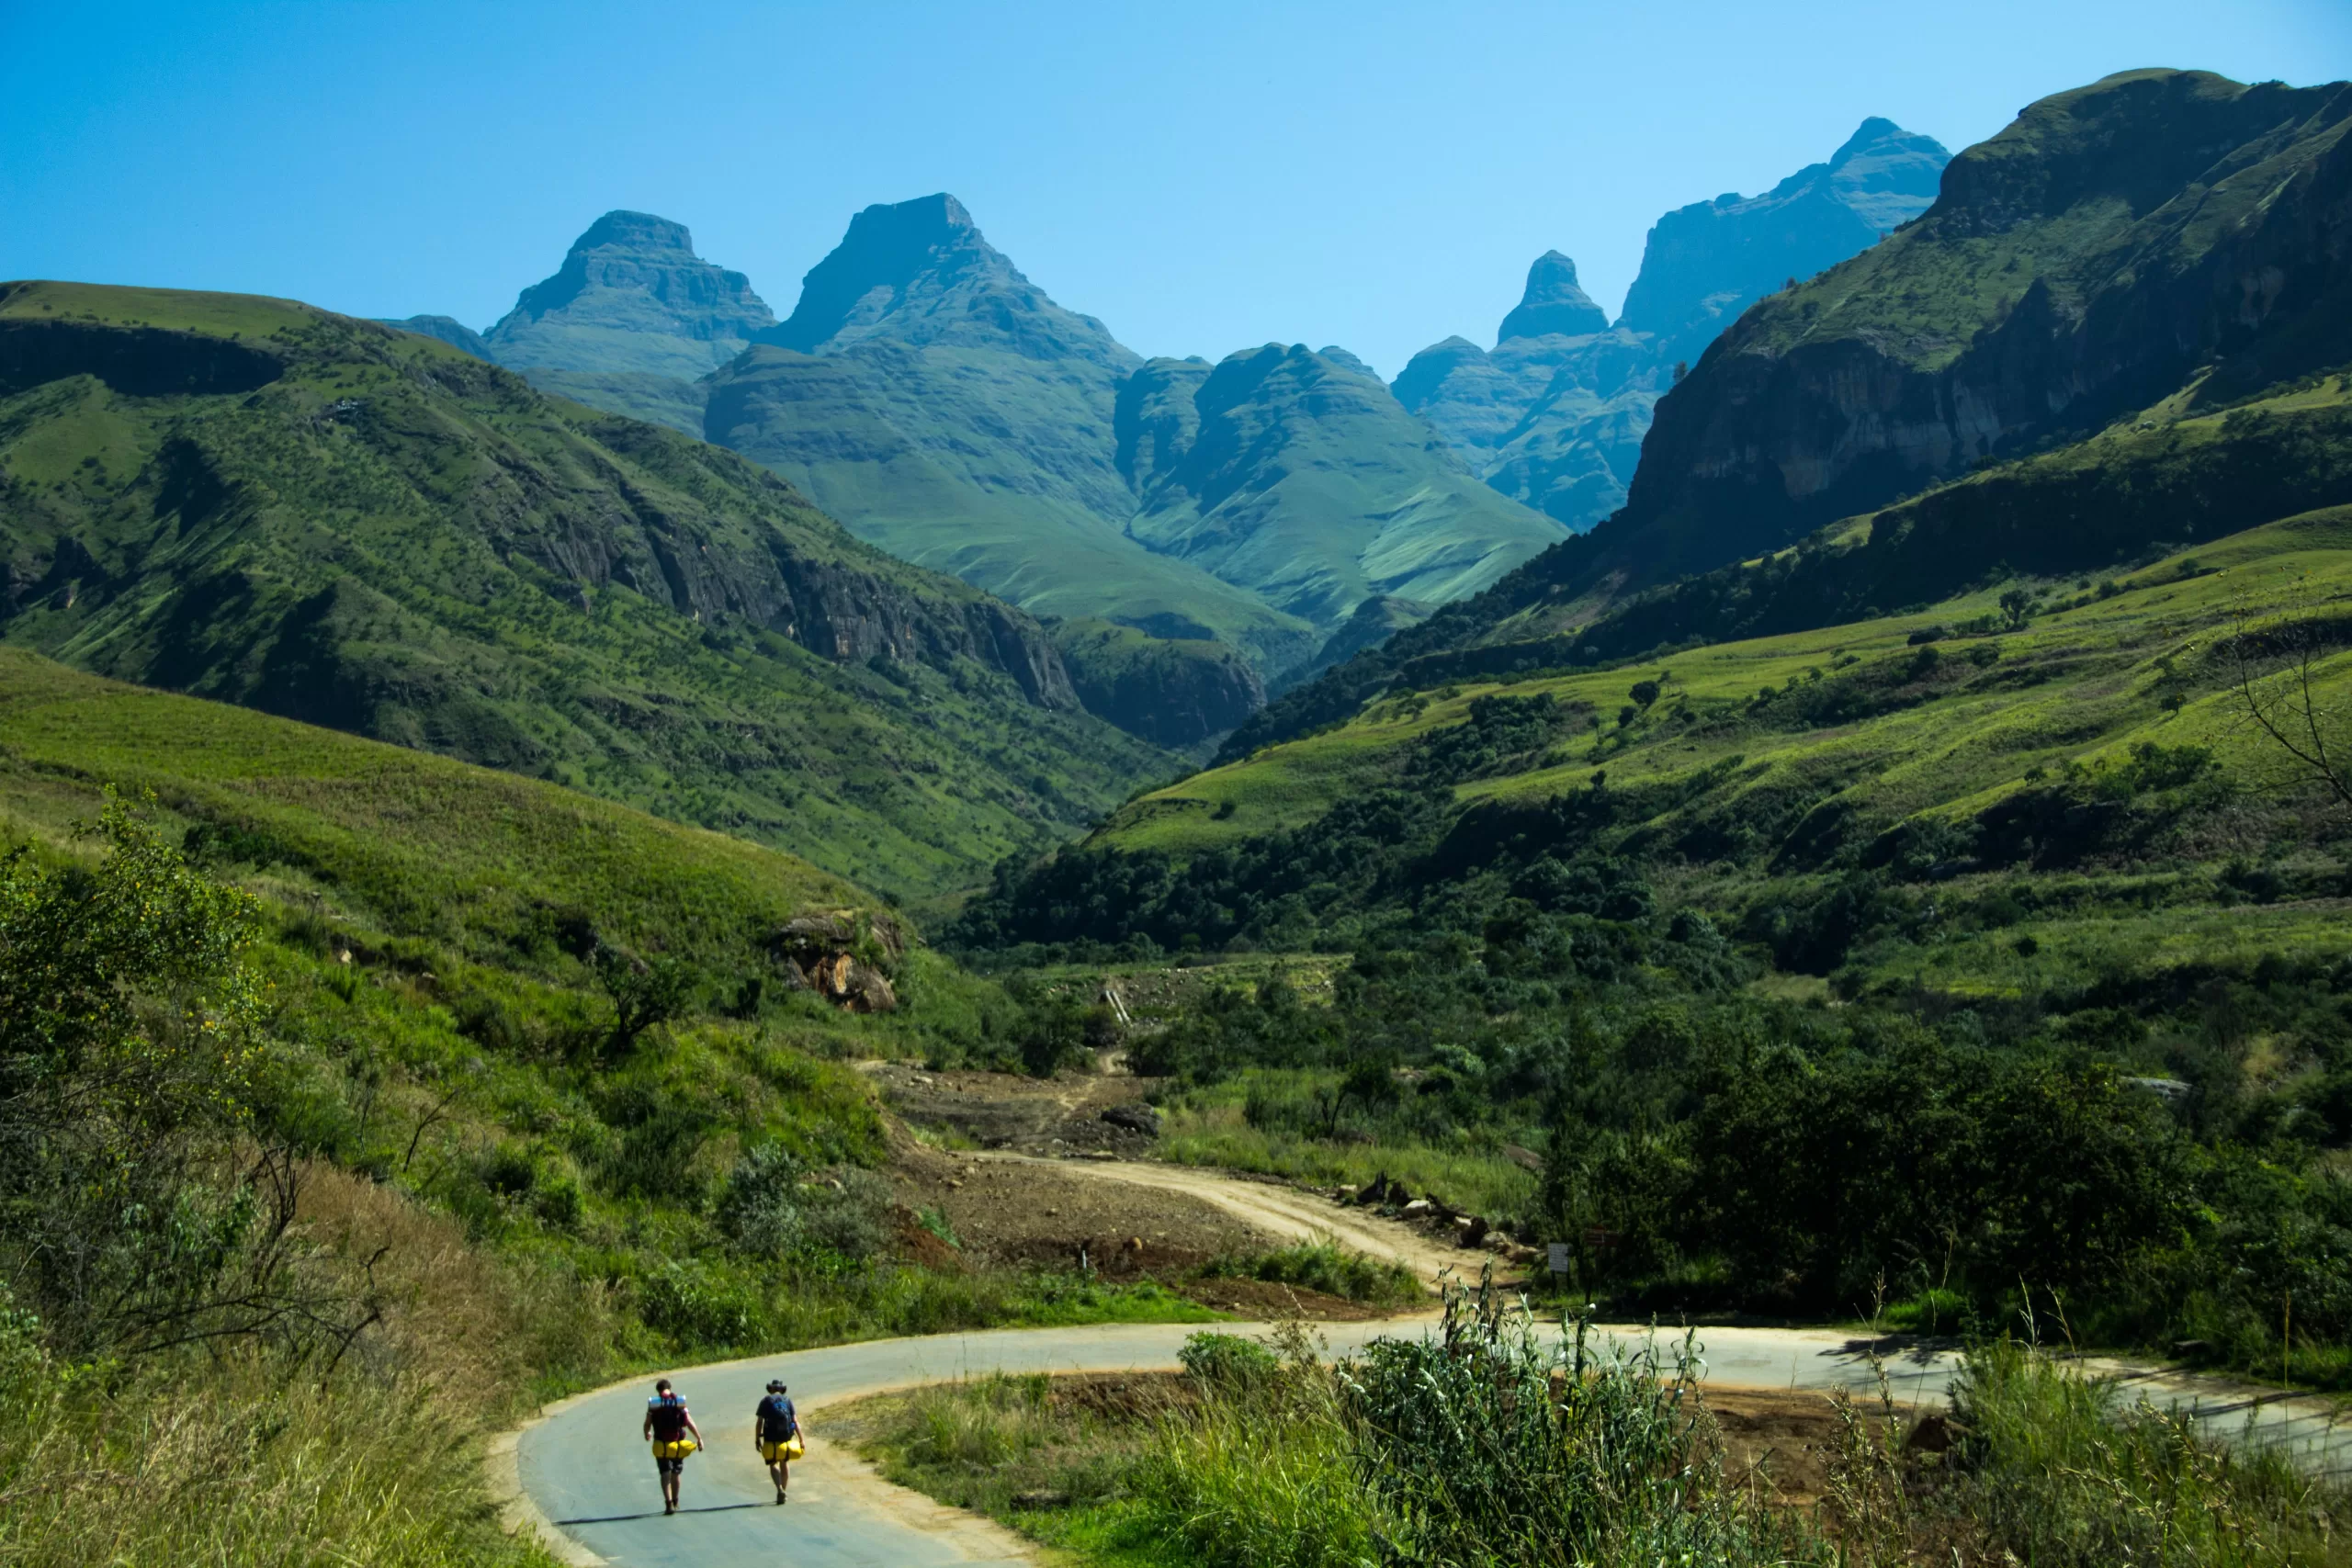
[[[2136,71],[2030,106],[1882,247],[1750,310],[1576,571],[1780,545],[2185,386],[2352,357],[2352,85]]]

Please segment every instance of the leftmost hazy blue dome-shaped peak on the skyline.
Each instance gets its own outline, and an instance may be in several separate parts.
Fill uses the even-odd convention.
[[[520,371],[691,381],[774,324],[776,315],[743,273],[694,254],[684,223],[649,212],[607,212],[572,242],[562,268],[524,289],[482,341],[499,364]]]

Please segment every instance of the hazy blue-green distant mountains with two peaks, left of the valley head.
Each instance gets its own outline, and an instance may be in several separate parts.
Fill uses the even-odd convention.
[[[633,249],[590,230],[564,273],[524,296],[541,310],[541,294],[562,294],[562,310],[541,324],[517,308],[492,329],[501,364],[743,451],[861,538],[1040,616],[1218,642],[1279,684],[1312,668],[1367,597],[1454,597],[1552,538],[1465,487],[1461,465],[1338,350],[1317,371],[1338,378],[1336,395],[1298,376],[1244,378],[1211,416],[1247,425],[1235,456],[1204,454],[1183,480],[1138,473],[1117,428],[1122,397],[1164,397],[1162,383],[1188,371],[1167,362],[1122,390],[1141,360],[1023,277],[950,195],[856,214],[793,315],[762,329],[750,327],[755,296],[729,294],[720,280],[736,275],[694,259],[682,228],[640,214],[600,228],[616,219],[630,219]],[[652,228],[663,247],[637,233]],[[673,296],[699,313],[682,317]],[[654,336],[663,362],[609,353],[628,334]],[[727,334],[750,348],[687,381],[708,367],[680,369],[677,355],[734,343]],[[1211,461],[1230,473],[1204,473]],[[1216,498],[1200,503],[1195,487]]]

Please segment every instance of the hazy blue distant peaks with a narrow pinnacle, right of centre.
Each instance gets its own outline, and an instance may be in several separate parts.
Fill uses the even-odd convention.
[[[1719,195],[1658,219],[1616,327],[1548,252],[1494,350],[1446,339],[1414,355],[1397,400],[1428,418],[1494,489],[1583,531],[1616,512],[1675,367],[1745,306],[1917,216],[1945,153],[1865,120],[1830,162],[1755,197]]]

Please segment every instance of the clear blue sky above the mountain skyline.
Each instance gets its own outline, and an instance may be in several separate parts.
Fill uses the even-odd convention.
[[[487,327],[637,207],[783,315],[851,212],[953,190],[1143,353],[1395,374],[1548,247],[1616,310],[1670,207],[2133,66],[2347,78],[2352,5],[0,0],[0,277]]]

